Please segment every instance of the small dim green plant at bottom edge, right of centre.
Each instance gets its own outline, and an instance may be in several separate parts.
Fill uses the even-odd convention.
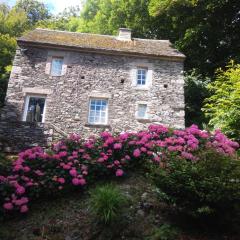
[[[149,240],[176,240],[178,237],[178,230],[169,224],[163,224],[156,228]]]

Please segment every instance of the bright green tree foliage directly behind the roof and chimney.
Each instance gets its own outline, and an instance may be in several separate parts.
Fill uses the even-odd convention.
[[[88,0],[79,21],[78,31],[116,34],[128,27],[137,37],[151,34],[148,0]]]

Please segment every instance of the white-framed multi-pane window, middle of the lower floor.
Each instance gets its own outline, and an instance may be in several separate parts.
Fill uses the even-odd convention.
[[[107,124],[108,122],[108,100],[90,99],[88,122],[90,124]]]

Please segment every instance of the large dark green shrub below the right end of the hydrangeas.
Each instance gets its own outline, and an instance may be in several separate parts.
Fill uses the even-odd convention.
[[[196,162],[174,159],[153,168],[161,200],[195,218],[232,222],[240,215],[239,159],[215,151],[199,153]]]

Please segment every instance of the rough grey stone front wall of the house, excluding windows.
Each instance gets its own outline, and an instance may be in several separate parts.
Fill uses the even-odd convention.
[[[49,54],[65,57],[63,76],[47,74]],[[152,69],[152,84],[147,89],[138,89],[132,84],[132,70],[137,66]],[[177,61],[46,48],[17,49],[1,121],[21,121],[26,95],[40,94],[46,96],[45,123],[54,124],[68,134],[88,136],[103,129],[140,130],[152,123],[183,128],[182,70],[183,63]],[[108,98],[106,126],[88,124],[89,99],[96,96]],[[135,117],[137,103],[142,101],[148,103],[149,118],[146,120]],[[34,127],[30,131],[35,131]]]

